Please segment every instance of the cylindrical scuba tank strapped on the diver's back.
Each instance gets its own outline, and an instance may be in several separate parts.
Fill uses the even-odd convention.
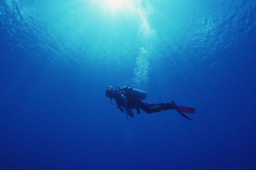
[[[135,98],[139,98],[139,99],[143,99],[145,100],[146,99],[146,92],[143,91],[143,90],[139,90],[139,89],[135,89],[135,88],[132,88],[132,87],[127,87],[127,86],[124,86],[124,87],[119,87],[118,90],[124,94],[124,96],[126,97],[135,97]]]

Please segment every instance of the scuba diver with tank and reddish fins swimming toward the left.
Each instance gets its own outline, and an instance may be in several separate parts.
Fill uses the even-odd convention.
[[[113,87],[108,86],[108,88],[106,89],[106,98],[107,97],[110,98],[111,103],[112,99],[115,99],[118,109],[120,109],[121,112],[124,111],[130,117],[135,116],[132,112],[132,109],[136,109],[137,114],[140,114],[140,109],[147,112],[148,114],[160,112],[163,110],[175,109],[179,114],[181,114],[188,120],[193,119],[185,115],[184,112],[190,114],[195,113],[195,109],[186,106],[178,106],[174,101],[159,104],[145,102],[143,100],[146,98],[146,92],[127,86],[116,87],[115,90],[113,89]]]

